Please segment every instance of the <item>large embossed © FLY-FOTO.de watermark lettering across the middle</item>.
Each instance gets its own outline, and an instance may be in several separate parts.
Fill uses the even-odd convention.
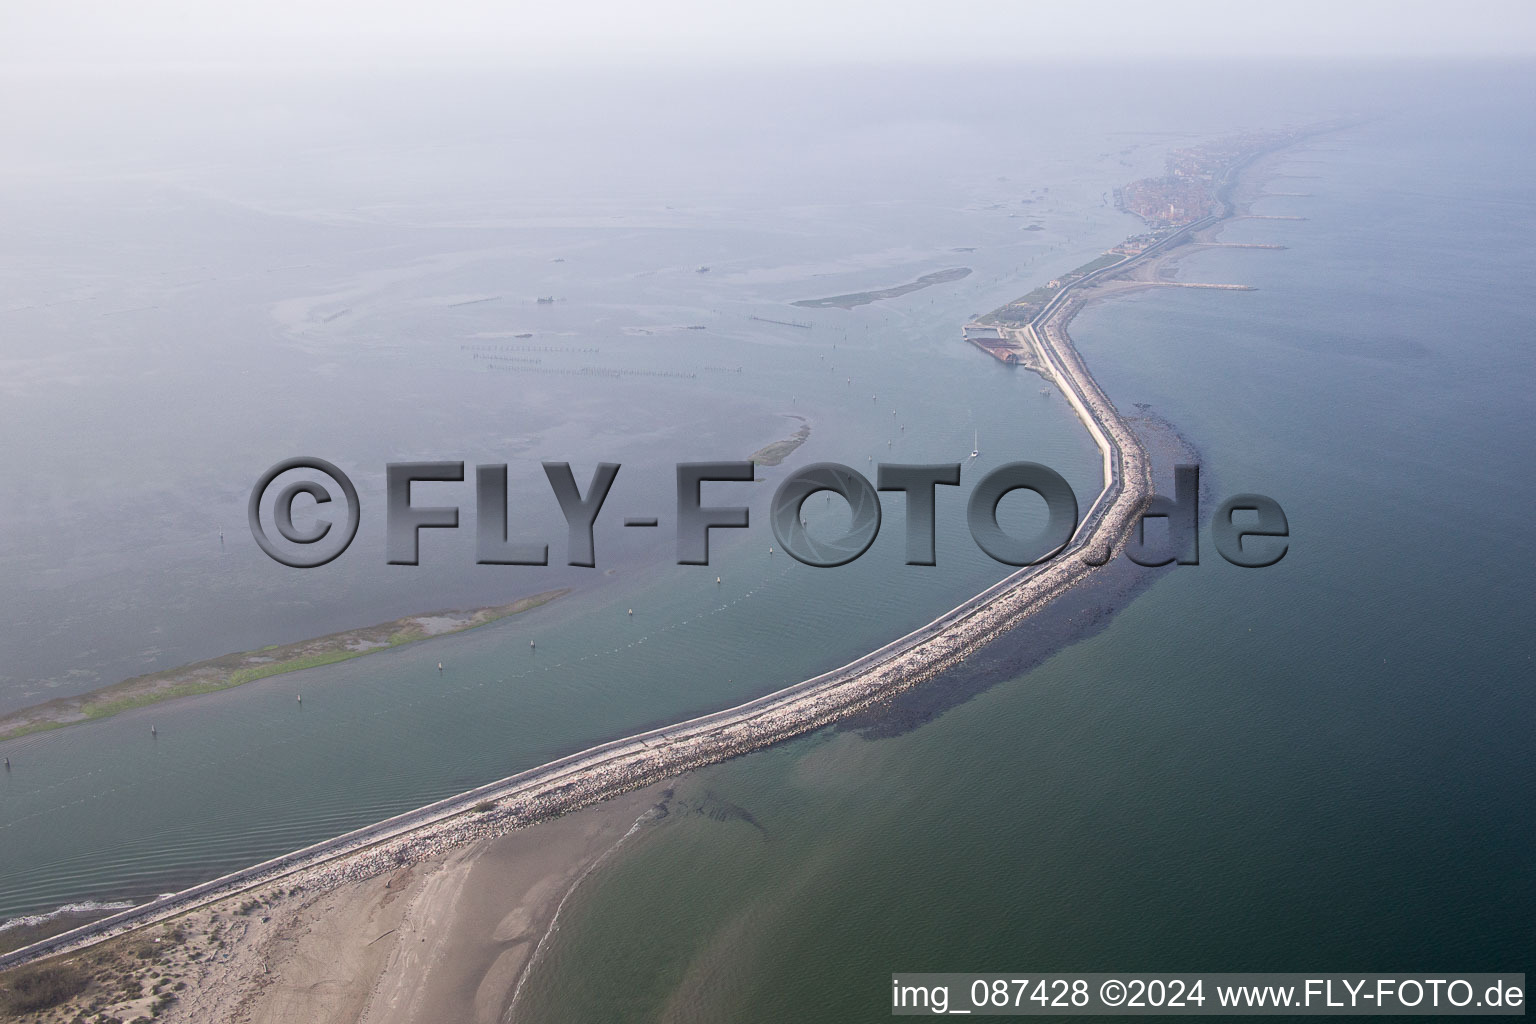
[[[593,528],[604,510],[617,462],[599,462],[585,490],[576,482],[568,462],[544,462],[554,500],[565,516],[567,563],[596,567]],[[329,477],[321,481],[300,477]],[[962,464],[889,464],[876,467],[876,482],[837,462],[816,462],[790,474],[774,491],[768,522],[779,545],[796,560],[819,568],[848,565],[869,550],[880,533],[882,491],[900,494],[906,502],[906,563],[935,565],[935,511],[940,487],[960,487]],[[705,484],[750,484],[756,479],[753,462],[679,462],[676,465],[677,502],[673,510],[677,531],[677,563],[710,563],[711,530],[746,530],[751,514],[745,505],[705,505]],[[418,565],[422,530],[458,530],[458,505],[416,505],[412,484],[465,481],[464,462],[390,462],[384,467],[386,560],[390,565]],[[1014,491],[1031,491],[1046,505],[1046,525],[1032,537],[1017,537],[998,522],[998,505]],[[803,507],[814,494],[837,494],[851,513],[842,536],[825,539],[806,528]],[[267,496],[272,496],[270,502]],[[476,510],[475,562],[479,565],[548,565],[550,545],[544,537],[518,537],[508,516],[507,464],[475,467]],[[335,508],[338,504],[341,508]],[[293,510],[300,502],[312,507],[313,522],[298,527]],[[977,547],[1005,565],[1038,565],[1066,551],[1078,534],[1080,517],[1072,487],[1055,470],[1038,462],[1009,462],[982,476],[966,499],[966,527]],[[333,464],[300,456],[270,467],[257,481],[247,507],[250,533],[272,559],[293,568],[315,568],[339,556],[356,537],[362,505],[352,479]],[[1147,520],[1166,520],[1160,542],[1147,539]],[[276,537],[267,531],[270,520]],[[656,528],[660,516],[627,516],[625,527]],[[1290,525],[1279,502],[1263,494],[1233,494],[1221,502],[1210,520],[1210,539],[1223,559],[1244,568],[1279,562],[1290,547]],[[1087,557],[1083,554],[1081,557]],[[1154,494],[1140,513],[1126,543],[1126,557],[1137,565],[1200,563],[1200,467],[1180,465],[1174,473],[1174,494]]]

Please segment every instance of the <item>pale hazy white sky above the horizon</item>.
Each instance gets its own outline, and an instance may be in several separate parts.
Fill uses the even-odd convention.
[[[1536,54],[1533,0],[3,0],[0,61]]]

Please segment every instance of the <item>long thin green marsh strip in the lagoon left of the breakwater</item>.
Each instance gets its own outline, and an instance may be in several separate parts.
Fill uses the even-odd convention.
[[[0,743],[83,722],[101,722],[124,711],[137,711],[166,700],[215,694],[221,689],[253,683],[258,679],[301,672],[306,668],[335,665],[433,637],[478,629],[559,600],[570,593],[571,588],[564,586],[519,597],[507,605],[406,616],[359,629],[343,629],[295,643],[273,643],[255,651],[221,654],[190,665],[134,676],[83,694],[54,697],[0,715]]]

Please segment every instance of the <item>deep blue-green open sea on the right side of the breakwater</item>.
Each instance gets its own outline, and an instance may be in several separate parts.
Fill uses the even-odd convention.
[[[1319,140],[1183,276],[1074,336],[1215,494],[1209,547],[1048,663],[894,738],[682,792],[567,904],[524,1019],[882,1019],[892,972],[1528,970],[1536,138],[1447,103]],[[1029,626],[1025,626],[1028,629]],[[1028,640],[1021,640],[1028,643]],[[943,685],[937,680],[935,685]],[[644,936],[644,941],[636,941]]]

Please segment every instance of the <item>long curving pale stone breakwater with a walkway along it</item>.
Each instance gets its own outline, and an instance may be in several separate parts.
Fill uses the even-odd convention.
[[[1150,468],[1140,441],[1068,338],[1066,324],[1084,301],[1080,292],[1064,289],[1023,329],[1104,457],[1104,488],[1055,557],[1008,576],[926,626],[831,672],[736,708],[594,746],[141,904],[6,953],[0,967],[72,952],[280,880],[290,892],[323,892],[395,870],[819,729],[958,665],[969,651],[1012,629],[1118,553],[1150,494]]]

